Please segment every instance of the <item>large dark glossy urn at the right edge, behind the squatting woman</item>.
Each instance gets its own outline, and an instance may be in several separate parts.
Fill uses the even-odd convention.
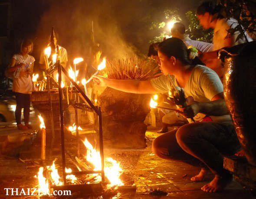
[[[240,144],[256,165],[256,42],[220,50],[225,59],[224,97]]]

